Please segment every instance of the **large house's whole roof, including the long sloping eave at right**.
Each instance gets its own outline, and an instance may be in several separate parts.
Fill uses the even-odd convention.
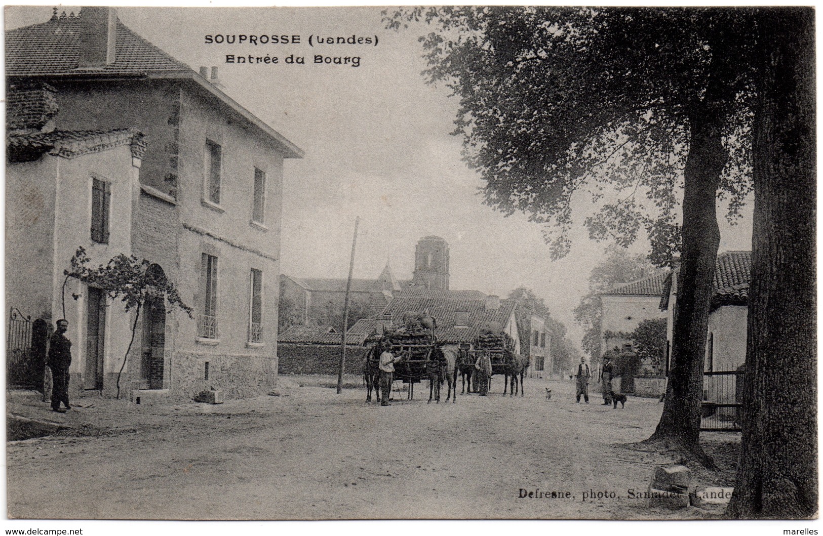
[[[234,113],[258,127],[284,150],[286,158],[303,158],[300,147],[236,103],[184,62],[158,49],[117,20],[114,62],[103,67],[79,68],[83,12],[75,17],[55,14],[49,21],[6,32],[6,76],[160,76],[193,81]]]

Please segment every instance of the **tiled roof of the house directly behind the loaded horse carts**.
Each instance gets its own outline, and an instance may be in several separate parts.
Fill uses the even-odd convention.
[[[391,315],[395,324],[402,323],[402,317],[408,312],[428,313],[434,317],[437,327],[437,340],[445,343],[472,343],[477,338],[480,328],[487,322],[496,322],[506,326],[514,311],[515,300],[501,299],[497,309],[486,309],[486,295],[481,299],[462,298],[460,293],[466,291],[427,291],[410,294],[403,291],[395,295],[384,309],[384,315]],[[476,291],[469,291],[476,292]],[[458,312],[467,313],[466,327],[455,327]]]

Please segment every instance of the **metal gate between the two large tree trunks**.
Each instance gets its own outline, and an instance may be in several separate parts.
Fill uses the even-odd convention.
[[[704,372],[700,432],[740,432],[742,400],[742,371]]]

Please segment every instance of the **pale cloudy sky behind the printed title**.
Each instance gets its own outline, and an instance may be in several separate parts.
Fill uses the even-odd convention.
[[[79,12],[79,7],[61,7]],[[44,22],[51,7],[7,7],[6,27]],[[421,72],[425,25],[385,30],[379,7],[142,8],[119,7],[121,21],[174,58],[218,67],[223,90],[305,151],[286,160],[281,272],[345,278],[355,219],[360,228],[354,277],[376,278],[388,261],[411,279],[416,242],[449,243],[452,289],[506,296],[525,285],[545,299],[579,344],[573,310],[606,243],[582,224],[569,256],[551,261],[542,226],[482,205],[484,183],[451,136],[458,100]],[[207,44],[206,35],[300,35],[300,43]],[[313,35],[313,44],[308,43]],[[377,44],[317,44],[317,36],[370,38]],[[291,39],[290,39],[291,40]],[[277,64],[227,63],[226,55],[278,57]],[[314,55],[360,58],[359,66],[315,64]],[[286,63],[289,56],[305,64]],[[578,201],[575,221],[587,208]],[[730,226],[718,210],[720,251],[751,249],[751,203]],[[634,252],[648,251],[637,243]]]

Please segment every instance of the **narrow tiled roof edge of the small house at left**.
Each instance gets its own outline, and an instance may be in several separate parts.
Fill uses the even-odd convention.
[[[142,157],[146,151],[142,133],[133,128],[12,133],[7,137],[7,157],[10,162],[29,162],[48,152],[75,158],[126,145],[132,146],[133,156]]]

